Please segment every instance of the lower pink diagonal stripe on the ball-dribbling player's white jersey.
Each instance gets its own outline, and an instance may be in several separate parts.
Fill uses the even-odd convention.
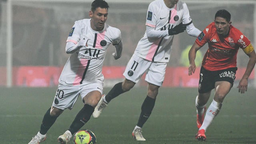
[[[80,59],[80,66],[76,72],[76,77],[74,79],[73,85],[78,85],[80,84],[80,81],[82,80],[83,74],[84,74],[84,70],[88,64],[88,60],[89,59],[85,59],[85,58],[81,58]]]

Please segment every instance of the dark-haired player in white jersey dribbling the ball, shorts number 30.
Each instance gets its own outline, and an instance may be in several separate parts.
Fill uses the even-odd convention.
[[[72,109],[80,95],[84,103],[70,128],[58,137],[60,144],[67,144],[72,134],[77,132],[94,112],[102,97],[102,65],[106,50],[110,44],[116,48],[114,59],[122,54],[121,32],[106,24],[108,3],[94,0],[89,12],[90,19],[78,20],[72,27],[67,43],[66,53],[71,54],[59,78],[59,86],[52,103],[44,115],[40,131],[28,144],[39,144],[46,139],[46,132],[58,116],[69,108]]]

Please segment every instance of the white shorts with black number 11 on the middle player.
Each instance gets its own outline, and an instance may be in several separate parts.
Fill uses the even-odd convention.
[[[133,54],[124,71],[124,77],[137,83],[146,72],[146,82],[162,86],[166,70],[166,62],[151,62]]]

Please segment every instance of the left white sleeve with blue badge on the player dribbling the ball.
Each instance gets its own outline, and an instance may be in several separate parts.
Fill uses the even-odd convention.
[[[74,44],[77,44],[80,40],[80,34],[81,34],[81,28],[78,22],[76,21],[68,34],[67,42],[73,42]]]

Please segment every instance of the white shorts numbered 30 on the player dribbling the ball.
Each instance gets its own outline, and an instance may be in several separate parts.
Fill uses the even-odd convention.
[[[62,110],[65,110],[66,108],[71,110],[76,103],[79,94],[83,99],[89,92],[94,90],[97,90],[102,94],[103,82],[84,82],[83,84],[75,86],[59,84],[52,106]]]

